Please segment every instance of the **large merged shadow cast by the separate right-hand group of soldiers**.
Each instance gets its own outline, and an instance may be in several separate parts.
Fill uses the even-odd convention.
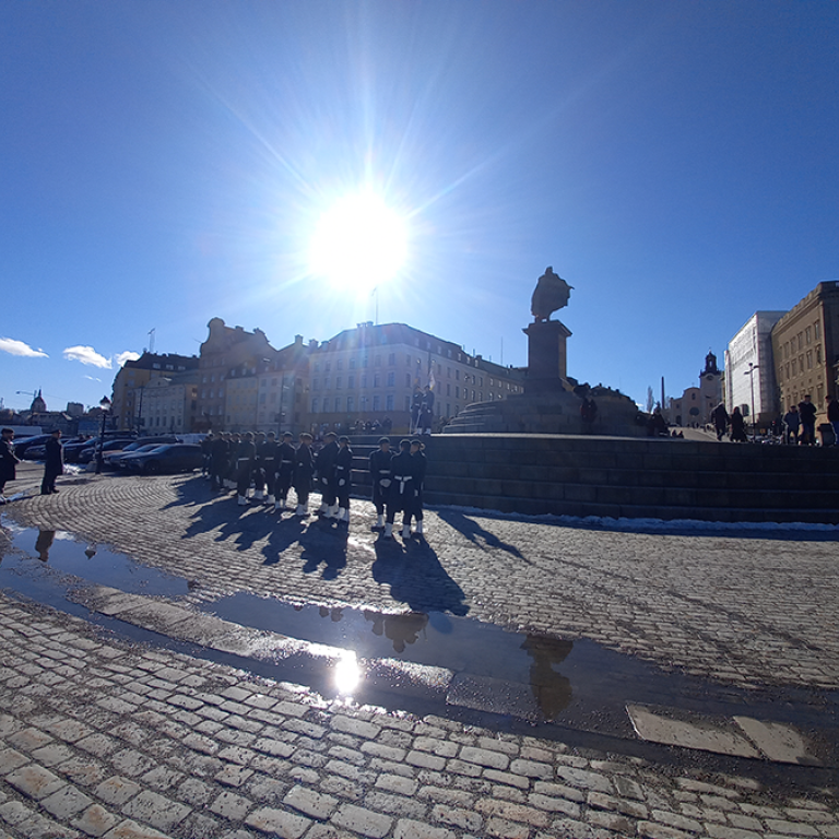
[[[463,589],[447,574],[427,542],[412,542],[405,548],[395,540],[378,539],[373,546],[373,578],[390,586],[393,600],[407,603],[413,612],[469,612]]]

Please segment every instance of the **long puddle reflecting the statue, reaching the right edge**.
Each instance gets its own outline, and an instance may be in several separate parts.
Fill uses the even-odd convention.
[[[292,605],[238,593],[200,606],[243,626],[352,651],[358,659],[398,659],[451,671],[447,701],[477,711],[513,713],[629,731],[627,701],[702,713],[743,712],[823,726],[836,725],[837,696],[773,690],[771,696],[714,685],[581,639],[506,630],[440,612],[382,614],[371,610]]]

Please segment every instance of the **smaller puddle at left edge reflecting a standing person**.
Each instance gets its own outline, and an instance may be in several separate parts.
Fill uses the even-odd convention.
[[[180,577],[140,565],[126,554],[79,541],[67,531],[8,523],[3,530],[12,550],[0,557],[0,588],[13,589],[42,603],[56,605],[63,600],[69,586],[63,579],[67,576],[132,594],[177,598],[189,591],[187,581]]]

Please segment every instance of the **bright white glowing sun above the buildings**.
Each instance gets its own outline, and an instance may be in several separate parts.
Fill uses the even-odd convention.
[[[333,285],[369,293],[392,279],[405,261],[404,220],[369,192],[336,201],[318,221],[310,265]]]

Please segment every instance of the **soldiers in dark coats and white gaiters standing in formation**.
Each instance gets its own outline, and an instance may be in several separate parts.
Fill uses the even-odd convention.
[[[352,493],[353,450],[346,436],[330,432],[323,447],[315,452],[312,437],[299,435],[293,445],[293,435],[286,432],[281,439],[273,432],[253,435],[223,433],[209,434],[202,442],[204,473],[216,489],[236,489],[238,504],[249,504],[253,486],[253,500],[265,504],[269,511],[292,509],[288,493],[297,496],[295,515],[309,515],[309,495],[314,488],[321,493],[318,516],[339,524],[350,523],[350,495]],[[416,534],[423,534],[423,482],[426,459],[420,440],[402,440],[399,452],[390,448],[390,439],[382,437],[369,459],[373,481],[373,503],[377,520],[374,531],[391,539],[395,517],[402,515],[402,537],[412,535],[411,522],[416,522]]]

